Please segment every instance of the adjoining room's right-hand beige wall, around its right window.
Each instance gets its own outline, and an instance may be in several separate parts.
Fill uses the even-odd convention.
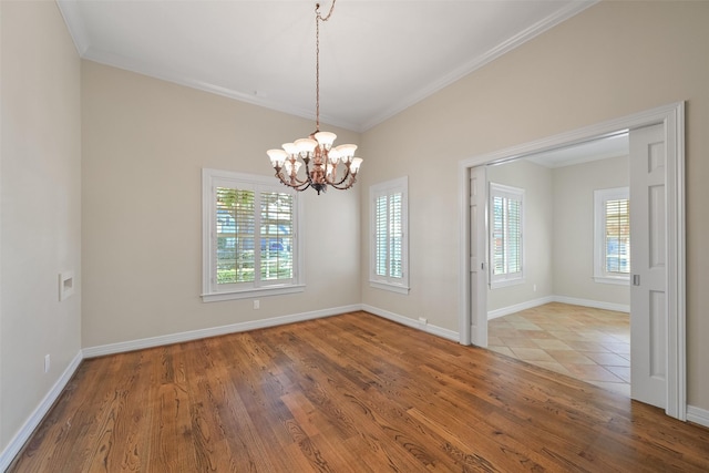
[[[594,275],[594,191],[629,185],[628,157],[554,169],[554,294],[630,305],[630,287]]]

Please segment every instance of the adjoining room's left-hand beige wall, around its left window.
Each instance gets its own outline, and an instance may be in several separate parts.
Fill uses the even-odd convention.
[[[552,171],[528,161],[515,161],[487,167],[487,181],[524,189],[524,284],[489,289],[487,310],[554,296]]]

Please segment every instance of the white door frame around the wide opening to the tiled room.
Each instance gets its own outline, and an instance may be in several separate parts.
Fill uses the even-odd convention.
[[[619,131],[662,124],[667,152],[667,405],[665,412],[675,419],[687,420],[687,357],[686,357],[686,247],[685,247],[685,102],[676,102],[645,112],[610,120],[571,132],[561,133],[505,150],[482,154],[459,163],[460,255],[459,258],[459,337],[461,345],[471,345],[472,298],[470,290],[470,169],[490,163],[516,160],[534,153],[553,151]],[[477,315],[477,322],[486,323],[487,315]]]

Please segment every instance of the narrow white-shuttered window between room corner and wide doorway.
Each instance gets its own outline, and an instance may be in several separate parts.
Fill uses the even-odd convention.
[[[408,189],[407,177],[369,188],[370,286],[401,294],[409,294]]]

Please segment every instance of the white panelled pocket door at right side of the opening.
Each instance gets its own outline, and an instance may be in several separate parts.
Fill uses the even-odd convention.
[[[667,405],[667,155],[662,125],[630,131],[630,397]]]

